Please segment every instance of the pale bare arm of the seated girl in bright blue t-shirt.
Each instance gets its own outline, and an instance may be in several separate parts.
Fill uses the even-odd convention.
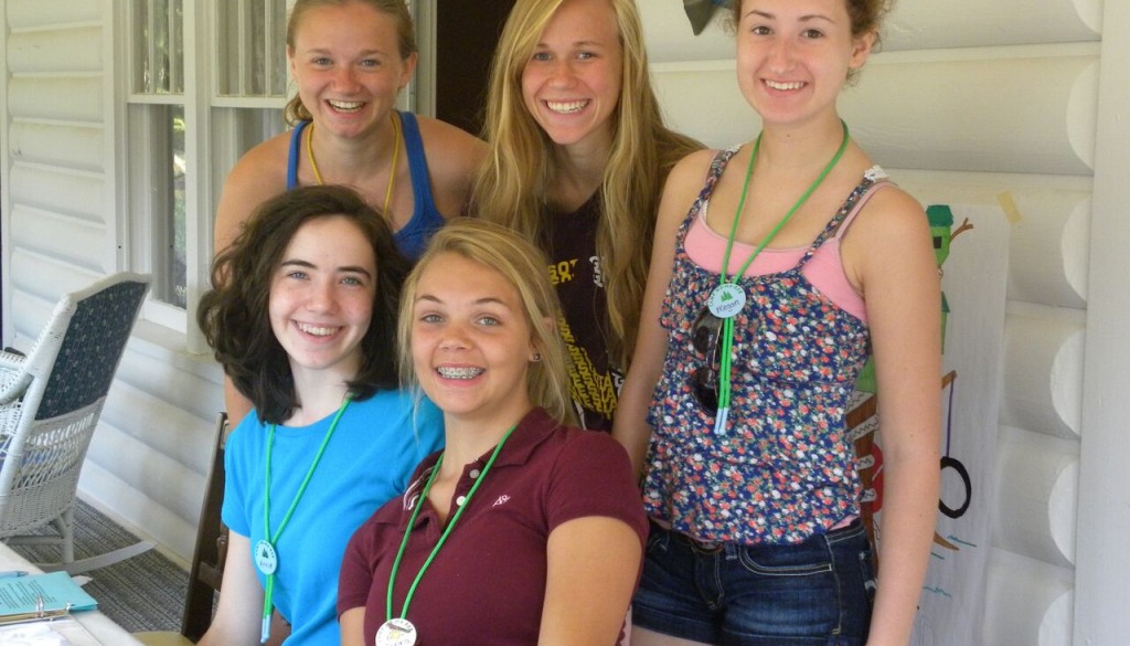
[[[263,588],[251,562],[251,541],[229,532],[216,618],[199,646],[259,646]]]

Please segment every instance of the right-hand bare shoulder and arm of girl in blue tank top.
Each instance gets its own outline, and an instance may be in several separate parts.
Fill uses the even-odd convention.
[[[432,199],[444,217],[459,217],[471,197],[475,173],[486,157],[487,145],[450,123],[424,117],[416,120],[424,140]]]

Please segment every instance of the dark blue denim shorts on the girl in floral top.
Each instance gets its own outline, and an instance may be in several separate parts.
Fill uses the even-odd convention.
[[[861,646],[875,587],[858,519],[784,545],[707,544],[652,523],[632,623],[704,644]]]

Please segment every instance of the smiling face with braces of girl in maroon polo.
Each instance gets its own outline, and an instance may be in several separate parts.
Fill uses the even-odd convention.
[[[420,387],[446,420],[505,427],[530,410],[532,331],[518,290],[486,265],[444,252],[424,267],[410,345]]]

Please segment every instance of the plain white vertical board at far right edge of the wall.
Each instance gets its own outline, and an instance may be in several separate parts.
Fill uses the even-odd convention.
[[[1090,0],[1097,3],[1097,0]],[[1130,2],[1102,6],[1083,434],[1076,532],[1075,644],[1123,644],[1130,635]]]

